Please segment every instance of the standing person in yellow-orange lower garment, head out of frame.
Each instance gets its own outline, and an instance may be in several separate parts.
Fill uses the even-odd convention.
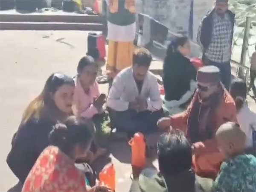
[[[109,87],[119,71],[132,65],[134,52],[136,0],[106,0],[108,5]]]

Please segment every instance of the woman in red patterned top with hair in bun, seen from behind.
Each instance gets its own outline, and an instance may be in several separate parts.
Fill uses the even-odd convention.
[[[22,192],[110,192],[90,181],[75,166],[86,156],[93,140],[90,124],[75,116],[58,123],[49,134],[49,146],[39,155],[29,172]]]

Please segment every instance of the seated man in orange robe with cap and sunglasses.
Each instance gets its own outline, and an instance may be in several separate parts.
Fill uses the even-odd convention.
[[[223,155],[217,148],[215,133],[225,122],[237,122],[236,105],[221,83],[220,70],[206,66],[198,70],[198,89],[186,111],[158,121],[159,128],[180,129],[192,144],[192,167],[201,177],[214,179]]]

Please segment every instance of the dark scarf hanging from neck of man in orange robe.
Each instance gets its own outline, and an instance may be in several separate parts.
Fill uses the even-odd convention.
[[[189,113],[187,136],[191,143],[211,139],[216,129],[215,109],[221,102],[224,88],[212,95],[207,101],[200,99],[198,90]]]

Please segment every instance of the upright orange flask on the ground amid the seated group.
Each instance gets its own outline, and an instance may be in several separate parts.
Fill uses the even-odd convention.
[[[131,145],[131,164],[137,168],[143,168],[146,163],[144,135],[135,133],[134,137],[129,141],[129,145]]]

